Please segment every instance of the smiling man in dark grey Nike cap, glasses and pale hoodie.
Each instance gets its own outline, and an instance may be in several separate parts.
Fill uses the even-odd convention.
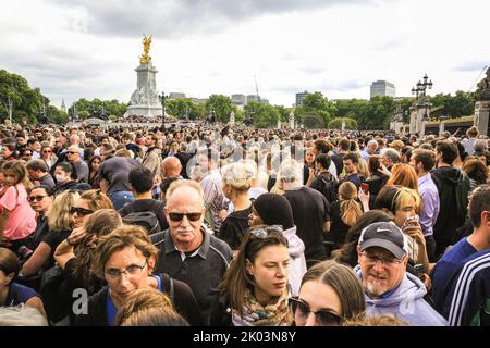
[[[406,236],[392,222],[363,229],[355,271],[366,294],[366,315],[392,314],[414,326],[446,326],[445,319],[424,299],[424,283],[406,272],[407,251]]]

